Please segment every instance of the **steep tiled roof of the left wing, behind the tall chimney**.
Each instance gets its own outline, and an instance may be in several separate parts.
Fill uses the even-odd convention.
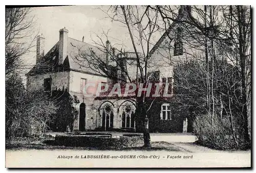
[[[50,51],[44,56],[44,59],[37,67],[36,65],[27,73],[27,75],[36,75],[38,73],[57,72],[65,70],[76,70],[84,73],[95,74],[94,67],[89,66],[91,53],[98,58],[104,58],[104,52],[98,47],[82,42],[73,38],[68,38],[68,55],[63,64],[58,64],[59,42],[57,42]],[[84,58],[87,57],[87,58]],[[80,65],[81,64],[81,65]],[[97,75],[97,74],[95,74]]]

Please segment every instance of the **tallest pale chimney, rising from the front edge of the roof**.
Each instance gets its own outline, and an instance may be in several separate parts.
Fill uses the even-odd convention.
[[[63,64],[68,55],[68,33],[69,30],[65,27],[59,30],[59,64]]]

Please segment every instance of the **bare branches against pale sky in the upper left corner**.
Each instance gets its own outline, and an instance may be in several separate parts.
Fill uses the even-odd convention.
[[[26,66],[22,58],[31,51],[33,41],[33,17],[29,16],[29,8],[6,8],[5,11],[5,68],[6,75],[14,71],[31,68]]]

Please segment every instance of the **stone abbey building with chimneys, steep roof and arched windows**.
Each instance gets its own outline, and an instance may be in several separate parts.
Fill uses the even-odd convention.
[[[172,63],[175,59],[186,59],[188,55],[191,55],[184,52],[186,47],[183,47],[181,34],[182,29],[176,27],[174,22],[150,52],[148,63],[154,65],[151,65],[149,72],[157,72],[160,82],[172,84]],[[38,36],[36,64],[27,73],[27,88],[29,90],[43,89],[45,92],[58,92],[57,95],[60,95],[58,98],[70,99],[69,104],[62,106],[68,118],[57,116],[58,118],[55,119],[60,121],[55,123],[55,126],[62,123],[64,128],[57,127],[55,130],[65,131],[65,127],[69,127],[71,131],[140,131],[140,122],[136,120],[135,96],[128,95],[117,99],[84,93],[84,87],[88,83],[104,85],[117,81],[99,75],[96,72],[97,67],[90,66],[93,63],[93,58],[91,61],[85,62],[79,56],[80,53],[91,57],[97,55],[105,63],[112,62],[108,62],[109,53],[100,51],[83,40],[70,38],[68,35],[69,31],[66,28],[59,30],[59,41],[47,54],[44,53],[46,39],[42,35]],[[108,43],[107,41],[106,47],[108,47]],[[166,52],[166,44],[168,44],[168,52]],[[129,75],[135,79],[137,71],[135,54],[125,53],[117,56],[123,56],[122,58],[125,59],[127,68],[129,68]],[[121,72],[117,72],[117,75],[121,75]],[[173,94],[172,90],[170,94]],[[153,104],[152,110],[148,124],[150,131],[186,132],[184,127],[187,126],[187,120],[177,116],[170,101]]]

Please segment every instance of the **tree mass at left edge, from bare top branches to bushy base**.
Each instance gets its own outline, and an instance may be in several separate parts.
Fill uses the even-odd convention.
[[[34,46],[33,17],[29,8],[6,8],[6,136],[40,135],[56,112],[56,104],[43,90],[26,90],[20,77],[32,66],[23,58]],[[32,41],[31,41],[32,38]],[[42,64],[40,64],[42,65]],[[25,70],[25,71],[24,71]]]

